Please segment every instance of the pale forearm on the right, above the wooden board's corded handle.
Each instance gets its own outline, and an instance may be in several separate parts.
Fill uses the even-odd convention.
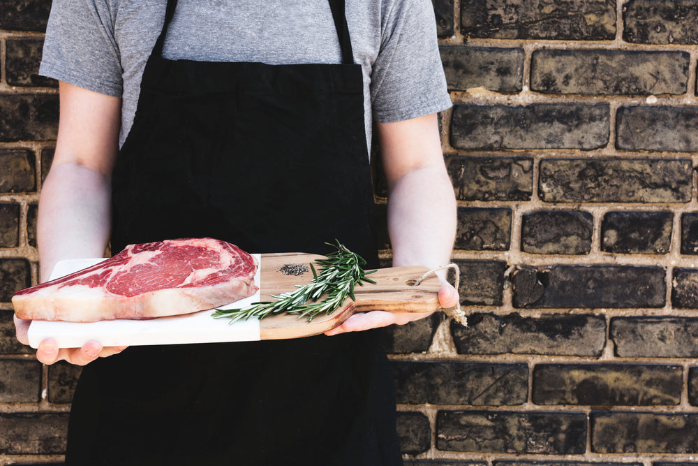
[[[443,166],[412,170],[395,180],[388,198],[393,265],[438,267],[450,262],[456,201]]]

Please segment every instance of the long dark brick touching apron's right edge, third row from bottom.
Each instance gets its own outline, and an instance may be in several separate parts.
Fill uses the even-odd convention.
[[[528,365],[393,361],[398,403],[412,405],[523,405]]]

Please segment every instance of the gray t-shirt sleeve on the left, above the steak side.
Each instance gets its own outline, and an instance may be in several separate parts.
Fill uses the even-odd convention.
[[[121,62],[114,22],[100,0],[54,0],[40,75],[110,96],[121,96]]]

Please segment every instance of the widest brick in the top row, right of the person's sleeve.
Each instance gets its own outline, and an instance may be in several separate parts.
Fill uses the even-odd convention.
[[[616,36],[613,0],[470,0],[461,3],[467,37],[611,41]]]

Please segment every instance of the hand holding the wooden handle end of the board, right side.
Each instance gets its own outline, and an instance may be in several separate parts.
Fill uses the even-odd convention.
[[[448,309],[458,304],[458,291],[450,284],[443,284],[438,291],[438,302],[440,307]],[[332,330],[327,330],[325,335],[339,335],[345,332],[359,332],[361,330],[369,330],[370,328],[386,327],[396,323],[404,325],[405,323],[424,319],[430,316],[431,312],[387,312],[387,311],[371,311],[359,312],[353,314],[346,319],[341,326],[335,327]]]

